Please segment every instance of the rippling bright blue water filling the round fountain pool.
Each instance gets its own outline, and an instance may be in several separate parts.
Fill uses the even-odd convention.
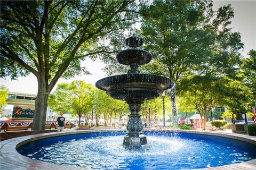
[[[250,143],[209,135],[145,132],[148,145],[125,148],[124,132],[65,135],[27,143],[20,154],[92,169],[194,169],[256,158]]]

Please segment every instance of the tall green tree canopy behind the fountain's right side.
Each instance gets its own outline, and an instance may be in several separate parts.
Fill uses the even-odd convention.
[[[145,70],[174,80],[178,95],[190,75],[237,73],[234,66],[243,44],[239,33],[229,28],[234,16],[230,5],[214,14],[211,1],[154,1],[141,11],[148,13],[141,36],[153,54]]]

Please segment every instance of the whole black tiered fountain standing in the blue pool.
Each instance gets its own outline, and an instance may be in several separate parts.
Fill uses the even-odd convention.
[[[173,81],[169,78],[140,74],[139,65],[149,63],[152,58],[149,52],[138,48],[142,43],[142,38],[133,35],[125,40],[125,44],[131,48],[117,54],[119,63],[130,65],[128,74],[114,75],[95,83],[97,88],[105,90],[110,97],[124,100],[129,105],[131,114],[126,126],[128,133],[124,137],[124,146],[139,147],[147,144],[147,139],[142,134],[141,104],[145,100],[158,97],[164,90],[173,86]]]

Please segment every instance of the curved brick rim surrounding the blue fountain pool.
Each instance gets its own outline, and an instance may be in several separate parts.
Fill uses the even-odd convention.
[[[256,137],[252,137],[245,134],[223,133],[223,132],[208,132],[208,131],[195,131],[195,130],[177,130],[177,129],[145,129],[147,131],[156,132],[179,132],[179,133],[194,133],[204,135],[214,135],[218,137],[225,137],[230,139],[236,139],[252,143],[256,145]],[[12,138],[1,141],[1,169],[85,169],[84,167],[74,167],[68,165],[59,165],[41,160],[31,159],[19,154],[16,150],[22,145],[28,142],[58,137],[68,134],[80,134],[80,133],[97,133],[97,132],[126,132],[126,129],[93,129],[93,130],[79,130],[79,131],[65,131],[65,132],[52,132],[42,133],[35,135],[28,135],[25,137]],[[256,159],[251,159],[243,163],[228,164],[217,167],[199,168],[199,169],[256,169]],[[198,169],[198,170],[199,170]]]

